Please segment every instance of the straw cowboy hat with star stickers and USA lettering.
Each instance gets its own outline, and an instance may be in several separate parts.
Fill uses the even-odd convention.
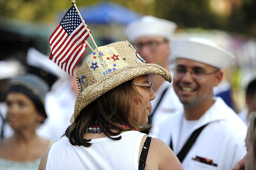
[[[141,75],[159,74],[172,81],[171,73],[156,64],[148,64],[140,57],[128,41],[101,46],[88,55],[77,70],[76,77],[82,91],[76,100],[75,111],[70,119],[73,123],[79,112],[92,101]]]

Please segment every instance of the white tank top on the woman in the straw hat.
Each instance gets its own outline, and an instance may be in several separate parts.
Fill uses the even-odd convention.
[[[73,146],[66,136],[54,143],[48,153],[46,170],[136,169],[141,139],[146,134],[127,131],[120,140],[92,139],[90,147]]]

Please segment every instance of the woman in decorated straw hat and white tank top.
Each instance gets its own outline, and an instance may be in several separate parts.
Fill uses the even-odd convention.
[[[128,42],[95,49],[76,72],[82,92],[72,125],[39,169],[183,169],[168,145],[146,135],[155,98],[149,74],[172,81],[170,72],[146,63]]]

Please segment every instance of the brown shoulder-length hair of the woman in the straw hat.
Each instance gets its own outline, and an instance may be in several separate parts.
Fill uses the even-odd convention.
[[[139,132],[149,133],[151,125],[142,125],[139,115],[142,118],[146,115],[146,106],[140,93],[133,86],[133,80],[124,82],[114,89],[109,90],[92,103],[87,105],[77,116],[75,122],[71,124],[65,135],[68,137],[72,145],[89,147],[91,139],[84,139],[88,127],[93,125],[97,120],[102,132],[113,140],[121,139],[122,131],[130,131],[136,128]],[[136,105],[135,100],[142,101],[140,109]],[[136,114],[138,113],[138,114]],[[131,126],[132,128],[123,128],[116,123]],[[104,127],[104,128],[102,128]],[[117,131],[111,131],[111,128]],[[110,137],[116,136],[118,137]]]

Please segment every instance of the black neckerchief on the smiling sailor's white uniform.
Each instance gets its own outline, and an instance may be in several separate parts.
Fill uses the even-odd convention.
[[[206,124],[208,125],[208,124]],[[199,134],[202,132],[202,130],[206,127],[206,125],[196,129],[188,138],[187,142],[184,144],[184,146],[182,147],[182,149],[180,150],[180,152],[177,155],[177,158],[180,160],[180,163],[182,163],[182,161],[184,160],[184,158],[187,156],[189,150],[191,149],[191,147],[193,146],[193,144],[196,142],[197,137],[199,136]],[[171,139],[171,143],[170,143],[170,148],[172,149],[172,139]]]

